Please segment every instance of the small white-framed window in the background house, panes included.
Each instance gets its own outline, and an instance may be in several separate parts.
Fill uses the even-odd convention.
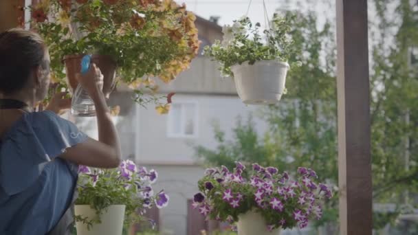
[[[168,113],[168,137],[197,136],[197,103],[179,102]]]

